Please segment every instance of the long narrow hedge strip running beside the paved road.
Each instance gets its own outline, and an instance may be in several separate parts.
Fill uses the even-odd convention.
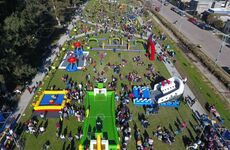
[[[229,75],[219,66],[217,66],[203,51],[201,51],[195,44],[190,43],[189,40],[182,35],[178,30],[165,20],[160,14],[153,9],[149,9],[160,21],[166,26],[178,39],[185,45],[207,68],[213,73],[227,88],[230,88]]]

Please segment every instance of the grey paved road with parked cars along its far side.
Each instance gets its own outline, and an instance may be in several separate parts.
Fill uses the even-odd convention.
[[[160,5],[157,0],[152,0],[155,5]],[[169,22],[173,23],[178,21],[174,26],[182,32],[189,40],[194,44],[200,44],[202,50],[213,60],[217,59],[219,54],[219,49],[222,41],[218,39],[212,32],[202,30],[187,21],[187,17],[181,17],[177,13],[170,10],[171,4],[168,6],[162,6],[160,14],[167,19]],[[218,57],[217,64],[224,67],[230,67],[230,48],[223,46],[222,52]]]

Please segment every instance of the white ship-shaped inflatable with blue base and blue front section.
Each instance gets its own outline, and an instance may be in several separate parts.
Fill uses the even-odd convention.
[[[179,107],[180,97],[184,93],[184,81],[172,77],[154,85],[153,90],[148,87],[133,87],[133,102],[137,106],[158,104],[159,106]]]

